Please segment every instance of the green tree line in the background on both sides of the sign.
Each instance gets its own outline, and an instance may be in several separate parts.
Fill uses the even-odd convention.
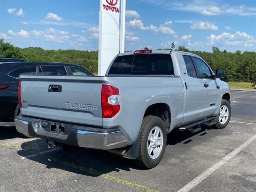
[[[174,45],[172,45],[172,50]],[[170,49],[169,49],[170,50]],[[175,50],[194,53],[202,57],[210,67],[224,69],[227,80],[230,82],[250,82],[254,81],[256,73],[256,52],[227,52],[212,47],[212,52],[202,52],[188,50],[184,46],[179,46]],[[18,48],[9,42],[0,39],[0,58],[20,58],[26,61],[35,62],[65,62],[78,64],[88,69],[90,72],[98,72],[98,50],[44,50],[40,47]]]

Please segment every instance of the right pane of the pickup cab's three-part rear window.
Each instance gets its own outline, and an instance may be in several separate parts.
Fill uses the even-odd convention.
[[[151,54],[147,74],[174,75],[171,56],[169,54]]]

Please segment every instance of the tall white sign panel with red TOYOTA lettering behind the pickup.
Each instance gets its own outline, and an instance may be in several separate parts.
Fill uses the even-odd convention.
[[[98,75],[104,76],[119,53],[120,0],[100,0]]]

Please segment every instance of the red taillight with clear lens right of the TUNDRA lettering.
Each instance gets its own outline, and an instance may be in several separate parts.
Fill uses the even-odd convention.
[[[110,85],[102,85],[101,110],[103,118],[112,118],[120,110],[119,90]]]

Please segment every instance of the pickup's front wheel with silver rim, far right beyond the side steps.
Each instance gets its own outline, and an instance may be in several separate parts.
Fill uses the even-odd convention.
[[[216,117],[216,128],[223,129],[228,125],[228,122],[230,120],[231,116],[231,107],[230,103],[222,99],[221,105],[220,105],[220,111],[218,116]]]

